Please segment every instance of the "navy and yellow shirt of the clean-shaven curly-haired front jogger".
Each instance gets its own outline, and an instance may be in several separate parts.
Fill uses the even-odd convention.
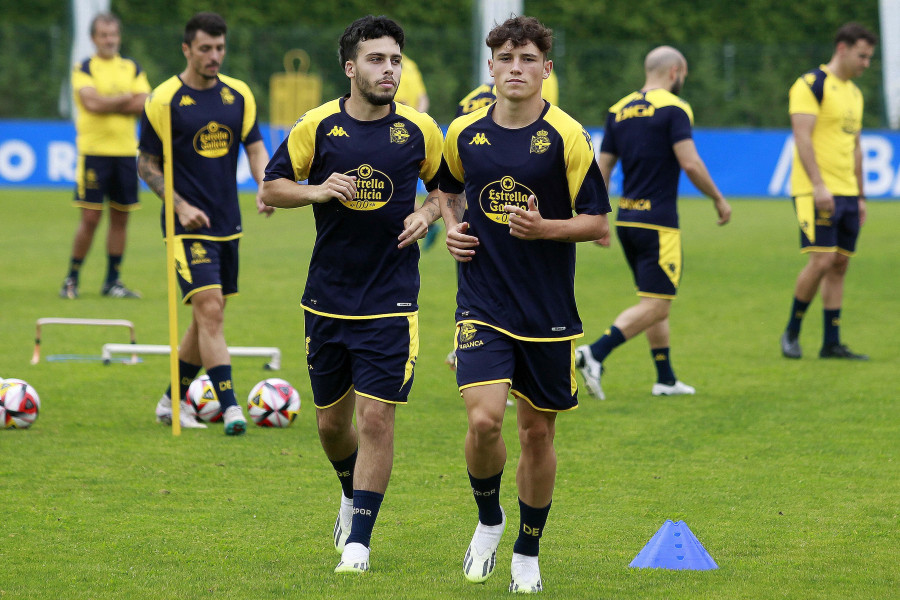
[[[526,208],[534,195],[545,219],[608,213],[590,136],[547,102],[537,121],[520,129],[497,125],[495,107],[456,119],[444,141],[441,190],[465,191],[463,220],[480,242],[472,261],[458,265],[456,320],[524,340],[580,337],[575,244],[513,237],[503,206]]]

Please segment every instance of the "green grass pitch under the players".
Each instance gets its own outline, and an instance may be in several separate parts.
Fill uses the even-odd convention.
[[[29,430],[0,431],[0,598],[497,598],[507,594],[518,511],[515,415],[504,424],[501,491],[511,527],[485,585],[462,577],[476,513],[463,461],[463,405],[443,364],[455,270],[442,244],[423,254],[421,353],[397,411],[396,459],[375,528],[372,571],[337,577],[331,529],[339,486],[315,430],[299,299],[312,211],[254,214],[243,196],[241,294],[226,337],[281,348],[282,370],[235,358],[238,398],[272,375],[303,399],[294,425],[226,438],[221,426],[171,431],[153,408],[168,358],[138,365],[48,362],[99,355],[122,329],[47,326],[41,317],[134,322],[167,343],[158,201],[134,213],[123,279],[144,299],[99,295],[105,220],[77,301],[57,297],[77,212],[66,191],[0,193],[0,376],[38,390]],[[897,231],[900,204],[870,202],[851,262],[843,338],[868,363],[817,359],[821,301],[788,361],[778,337],[804,259],[787,201],[733,200],[715,225],[706,200],[681,202],[685,274],[672,309],[672,359],[694,397],[653,398],[643,338],[606,362],[608,400],[582,395],[558,419],[559,471],[542,541],[548,598],[889,598],[900,589]],[[348,257],[352,260],[352,257]],[[539,282],[536,282],[539,284]],[[593,339],[633,304],[614,245],[578,249],[577,294]],[[188,312],[179,313],[179,330]],[[630,569],[666,519],[684,520],[719,569]]]

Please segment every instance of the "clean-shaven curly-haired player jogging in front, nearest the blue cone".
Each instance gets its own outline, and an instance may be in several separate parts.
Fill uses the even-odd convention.
[[[459,262],[456,380],[478,508],[463,574],[478,583],[494,572],[506,526],[502,424],[512,393],[522,451],[513,592],[542,589],[538,550],[556,476],[556,415],[578,406],[574,340],[583,333],[575,242],[598,239],[609,227],[609,198],[590,137],[541,98],[553,68],[552,35],[532,17],[491,30],[486,43],[497,101],[451,123],[441,168],[447,248]]]

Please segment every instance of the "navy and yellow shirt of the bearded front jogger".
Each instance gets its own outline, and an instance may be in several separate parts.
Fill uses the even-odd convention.
[[[398,249],[403,220],[416,210],[417,180],[437,187],[441,130],[427,114],[392,103],[388,116],[358,121],[346,98],[304,114],[266,167],[266,181],[332,173],[356,177],[352,201],[313,204],[316,243],[303,308],[337,318],[410,315],[418,310],[419,247]]]

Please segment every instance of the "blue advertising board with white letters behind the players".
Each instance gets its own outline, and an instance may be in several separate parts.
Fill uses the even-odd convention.
[[[285,135],[261,125],[271,153]],[[603,130],[589,128],[595,149]],[[722,193],[729,197],[786,197],[790,195],[793,138],[789,130],[696,129],[700,156]],[[900,133],[872,130],[862,136],[866,195],[900,197]],[[70,188],[75,181],[75,128],[66,121],[0,120],[0,187]],[[610,193],[621,189],[621,172],[613,171]],[[245,156],[238,166],[242,190],[255,189]],[[420,191],[424,192],[424,188]],[[699,191],[682,175],[682,196]]]

